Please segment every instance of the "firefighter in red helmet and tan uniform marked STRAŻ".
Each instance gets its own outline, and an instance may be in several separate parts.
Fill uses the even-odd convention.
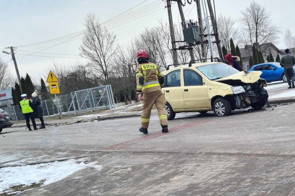
[[[164,77],[160,69],[154,63],[149,62],[148,53],[144,50],[137,52],[136,69],[136,92],[138,99],[142,101],[142,116],[140,132],[148,134],[148,125],[150,114],[155,104],[158,110],[158,116],[162,126],[162,132],[168,132],[168,119],[165,110],[166,99],[161,91],[164,84]]]

